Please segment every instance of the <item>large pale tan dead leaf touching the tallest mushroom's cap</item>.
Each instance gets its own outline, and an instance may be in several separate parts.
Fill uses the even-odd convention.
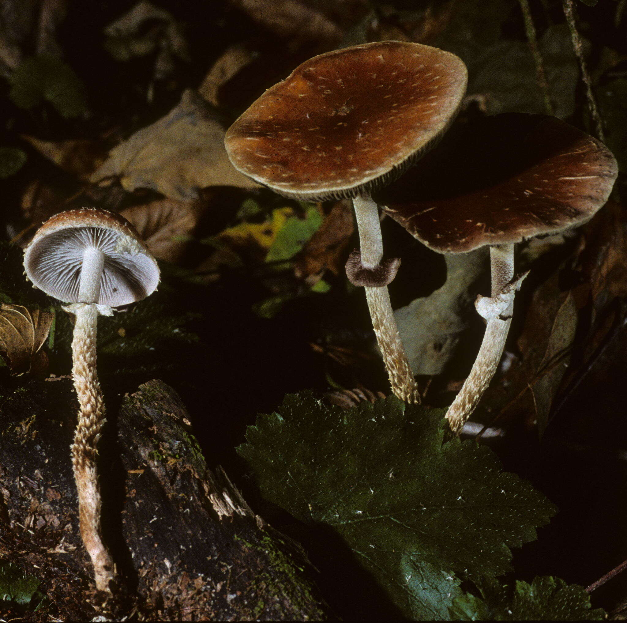
[[[233,167],[224,128],[189,89],[169,114],[112,149],[90,181],[107,178],[119,178],[129,192],[150,188],[179,201],[198,199],[208,186],[259,187]]]

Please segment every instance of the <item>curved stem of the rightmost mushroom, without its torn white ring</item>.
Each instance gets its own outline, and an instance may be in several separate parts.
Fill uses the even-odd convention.
[[[446,412],[451,430],[459,435],[466,420],[477,407],[483,392],[497,371],[498,362],[505,348],[505,340],[512,324],[514,311],[514,245],[495,245],[490,247],[490,268],[492,270],[492,299],[507,293],[510,297],[507,306],[488,316],[488,323],[483,334],[483,341],[477,359],[468,378]]]

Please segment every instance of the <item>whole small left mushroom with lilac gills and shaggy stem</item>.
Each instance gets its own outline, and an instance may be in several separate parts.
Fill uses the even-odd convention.
[[[70,210],[50,218],[26,248],[24,267],[34,286],[69,303],[65,309],[75,316],[72,373],[80,410],[71,455],[80,532],[96,588],[110,594],[116,569],[101,529],[97,443],[105,408],[96,371],[97,319],[152,294],[159,268],[135,228],[103,210]]]

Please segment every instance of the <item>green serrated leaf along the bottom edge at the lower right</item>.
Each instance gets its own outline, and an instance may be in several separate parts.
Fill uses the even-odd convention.
[[[458,595],[449,607],[452,620],[475,621],[596,621],[606,618],[604,610],[591,609],[586,590],[550,576],[536,577],[531,584],[516,582],[501,586],[495,580],[480,583],[481,597]]]

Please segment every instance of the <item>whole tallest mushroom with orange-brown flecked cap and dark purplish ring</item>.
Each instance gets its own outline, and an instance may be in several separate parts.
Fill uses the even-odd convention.
[[[403,173],[445,132],[466,90],[455,55],[381,41],[315,56],[253,102],[226,132],[234,166],[284,196],[350,197],[359,251],[346,264],[366,288],[374,332],[394,394],[417,402],[387,292],[400,260],[383,258],[371,191]]]

